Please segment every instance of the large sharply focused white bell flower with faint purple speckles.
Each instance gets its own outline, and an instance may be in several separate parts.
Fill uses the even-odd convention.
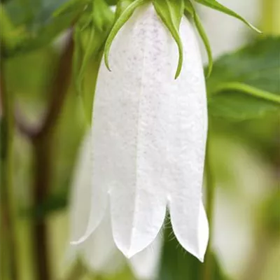
[[[99,69],[92,118],[92,202],[85,241],[111,213],[113,239],[127,258],[158,236],[167,208],[179,243],[203,260],[209,237],[202,206],[207,98],[195,31],[178,47],[151,3],[136,10]]]

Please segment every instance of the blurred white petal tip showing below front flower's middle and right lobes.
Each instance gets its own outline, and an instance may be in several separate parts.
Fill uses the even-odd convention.
[[[162,245],[163,240],[159,234],[150,246],[129,260],[132,272],[134,272],[137,279],[151,280],[156,278],[160,267]]]

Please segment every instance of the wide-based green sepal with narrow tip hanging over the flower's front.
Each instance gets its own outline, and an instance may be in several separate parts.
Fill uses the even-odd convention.
[[[175,78],[178,78],[183,65],[183,45],[179,34],[179,27],[184,12],[183,0],[153,0],[153,6],[178,45],[179,62],[175,74]]]

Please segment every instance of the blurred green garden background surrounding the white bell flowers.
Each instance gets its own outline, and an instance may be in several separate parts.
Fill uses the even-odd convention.
[[[69,1],[73,5],[54,17],[66,2],[0,3],[0,278],[134,279],[129,268],[97,275],[66,258],[71,180],[107,34],[96,27],[91,41],[94,22],[79,32],[87,20],[80,16],[86,1]],[[197,7],[215,58],[207,80],[211,182],[204,195],[212,213],[211,250],[200,264],[179,248],[167,227],[158,280],[280,279],[280,115],[279,102],[272,100],[280,96],[279,2],[221,1],[262,35]],[[269,98],[251,94],[252,88]],[[38,272],[42,262],[48,262],[45,276]]]

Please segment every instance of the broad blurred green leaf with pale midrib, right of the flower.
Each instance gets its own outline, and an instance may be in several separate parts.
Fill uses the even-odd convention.
[[[279,111],[279,57],[280,37],[267,37],[218,59],[207,80],[210,115],[247,120]]]

